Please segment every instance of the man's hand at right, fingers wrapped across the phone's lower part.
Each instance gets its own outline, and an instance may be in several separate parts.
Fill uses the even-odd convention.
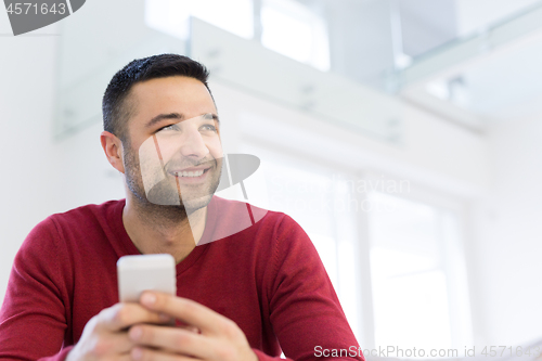
[[[184,328],[134,325],[133,360],[258,361],[245,334],[232,320],[193,300],[156,292],[140,299],[149,310],[171,315],[201,333]]]

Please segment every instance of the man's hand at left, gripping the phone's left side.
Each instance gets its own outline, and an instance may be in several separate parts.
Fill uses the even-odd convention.
[[[116,304],[103,309],[87,322],[81,338],[69,351],[66,361],[131,360],[133,341],[127,327],[137,323],[165,324],[171,318],[151,311],[139,304]]]

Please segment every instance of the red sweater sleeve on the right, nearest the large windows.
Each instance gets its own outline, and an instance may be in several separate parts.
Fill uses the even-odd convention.
[[[284,354],[296,361],[322,360],[321,350],[348,350],[333,360],[360,360],[324,266],[305,231],[289,217],[281,222],[272,258],[270,319]],[[278,360],[257,352],[260,360]]]

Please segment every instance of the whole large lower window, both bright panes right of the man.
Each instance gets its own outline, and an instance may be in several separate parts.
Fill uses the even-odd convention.
[[[240,149],[261,159],[260,179],[245,184],[248,202],[284,211],[304,228],[360,345],[372,347],[365,333],[374,336],[376,348],[470,345],[460,210],[423,203],[418,199],[427,197],[416,192],[412,199],[399,196],[412,191],[404,180],[359,178],[318,159],[251,144]],[[366,268],[360,265],[363,254],[369,254]],[[373,313],[374,327],[363,323],[366,312]]]

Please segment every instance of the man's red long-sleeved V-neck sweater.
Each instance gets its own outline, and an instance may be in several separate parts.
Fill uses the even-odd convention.
[[[79,207],[30,232],[0,310],[0,359],[63,360],[87,322],[118,302],[117,259],[140,254],[124,228],[124,206]],[[279,360],[281,348],[294,360],[324,359],[315,347],[357,350],[320,257],[292,218],[269,211],[209,242],[246,210],[244,203],[212,198],[201,245],[177,265],[178,296],[235,321],[260,360]]]

